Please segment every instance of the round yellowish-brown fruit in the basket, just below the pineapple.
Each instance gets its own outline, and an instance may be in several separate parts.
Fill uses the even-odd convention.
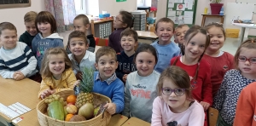
[[[91,103],[85,103],[84,106],[79,108],[79,115],[85,117],[87,120],[93,117],[93,105]]]

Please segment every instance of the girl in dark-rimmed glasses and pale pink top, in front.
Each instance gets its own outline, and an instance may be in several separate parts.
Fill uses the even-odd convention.
[[[205,112],[192,99],[190,78],[178,66],[170,66],[161,73],[157,83],[158,97],[153,102],[151,126],[178,126],[204,124]]]

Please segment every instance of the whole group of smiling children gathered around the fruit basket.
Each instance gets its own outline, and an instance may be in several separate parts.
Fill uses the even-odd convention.
[[[38,81],[38,98],[44,99],[73,89],[84,67],[91,67],[96,69],[93,91],[113,102],[107,105],[110,114],[138,117],[157,126],[201,126],[207,125],[206,112],[212,106],[219,111],[218,125],[253,122],[256,39],[241,43],[233,56],[220,50],[226,38],[221,24],[175,28],[172,20],[161,18],[154,31],[159,39],[138,46],[133,20],[131,13],[120,11],[108,47],[96,53],[95,40],[86,36],[90,22],[84,14],[73,20],[66,50],[49,12],[27,13],[19,42],[15,26],[3,22],[0,75]],[[241,116],[245,106],[250,113]]]

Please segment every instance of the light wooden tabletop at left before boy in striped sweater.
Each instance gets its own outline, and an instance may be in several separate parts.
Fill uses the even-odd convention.
[[[40,83],[25,78],[20,81],[13,79],[4,79],[0,77],[0,103],[4,106],[10,106],[16,102],[20,102],[30,109],[35,109],[38,102],[38,91]],[[0,112],[0,117],[10,123],[11,118]]]

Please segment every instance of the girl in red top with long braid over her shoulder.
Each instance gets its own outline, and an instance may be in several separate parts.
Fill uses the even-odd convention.
[[[192,96],[205,111],[212,106],[211,67],[207,60],[201,58],[209,43],[207,31],[201,26],[192,26],[184,36],[184,54],[171,60],[171,66],[180,66],[188,72]],[[207,126],[207,120],[205,126]]]

